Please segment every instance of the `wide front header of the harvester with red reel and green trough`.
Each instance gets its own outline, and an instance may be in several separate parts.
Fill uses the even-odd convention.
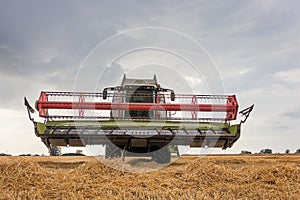
[[[48,96],[76,96],[78,102],[55,102],[49,101]],[[231,147],[240,137],[241,124],[245,123],[254,105],[239,113],[245,118],[239,124],[230,125],[228,121],[236,118],[238,104],[234,95],[177,95],[180,97],[192,97],[191,104],[149,104],[149,103],[111,103],[111,102],[86,102],[84,97],[103,97],[103,93],[74,93],[74,92],[41,92],[36,107],[39,115],[45,118],[44,123],[36,122],[31,116],[34,109],[24,98],[29,119],[34,124],[35,134],[42,139],[48,148],[54,144],[52,140],[61,140],[61,146],[85,146],[92,144],[105,144],[113,142],[117,146],[127,146],[131,139],[139,138],[141,135],[146,138],[148,145],[190,145],[192,147],[221,147],[226,149]],[[226,105],[204,105],[198,104],[200,99],[227,99]],[[167,111],[191,111],[194,114],[183,122],[184,118],[164,118],[151,121],[147,119],[123,118],[119,120],[107,120],[101,116],[84,116],[84,109],[106,109],[106,110],[126,110],[126,109],[157,109]],[[49,115],[49,109],[78,109],[79,116]],[[202,111],[226,112],[226,119],[197,118],[196,113]],[[71,120],[61,120],[61,119]],[[59,119],[59,120],[58,120]],[[99,120],[101,119],[101,120]],[[191,121],[192,120],[192,121]],[[137,126],[129,125],[128,121],[137,123]],[[143,124],[144,123],[144,124]],[[178,125],[180,124],[180,126]],[[39,130],[43,126],[43,131]],[[139,128],[138,128],[139,127]],[[233,127],[234,131],[231,130]],[[214,146],[211,146],[214,144]]]

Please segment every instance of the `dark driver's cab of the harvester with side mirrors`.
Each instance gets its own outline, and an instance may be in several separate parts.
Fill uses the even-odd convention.
[[[103,90],[103,99],[106,100],[108,92],[112,96],[114,103],[137,103],[140,107],[143,104],[160,104],[166,103],[166,96],[170,96],[170,100],[175,100],[174,90],[161,88],[157,83],[156,75],[153,79],[127,79],[124,74],[121,86],[108,87]],[[143,104],[141,104],[143,103]],[[166,118],[167,111],[161,110],[112,110],[111,119],[160,119]]]

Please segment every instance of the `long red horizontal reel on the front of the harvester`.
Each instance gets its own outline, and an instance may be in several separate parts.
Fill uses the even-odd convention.
[[[78,97],[78,101],[48,100],[49,96]],[[94,96],[101,99],[102,93],[67,93],[67,92],[41,92],[37,102],[40,117],[51,117],[49,109],[78,109],[79,117],[84,117],[84,110],[154,110],[154,111],[189,111],[192,120],[197,119],[197,112],[225,112],[224,120],[235,120],[238,103],[235,95],[176,95],[176,99],[192,99],[192,103],[122,103],[109,101],[86,101],[87,97]],[[227,103],[201,103],[201,101],[224,100]],[[190,101],[191,102],[191,101]]]

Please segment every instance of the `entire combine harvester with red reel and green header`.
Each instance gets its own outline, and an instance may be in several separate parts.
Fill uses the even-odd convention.
[[[36,136],[51,150],[56,146],[106,145],[106,157],[126,152],[151,155],[158,163],[171,159],[169,147],[231,147],[240,137],[254,105],[240,111],[235,95],[188,95],[160,87],[153,79],[127,79],[102,93],[41,92],[33,119]],[[173,148],[174,149],[174,148]]]

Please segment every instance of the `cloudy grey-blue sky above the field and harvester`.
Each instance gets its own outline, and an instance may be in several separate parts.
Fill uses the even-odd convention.
[[[40,91],[95,91],[117,83],[124,72],[144,76],[155,70],[162,85],[179,92],[222,90],[237,95],[240,108],[255,104],[239,141],[222,152],[300,148],[299,1],[0,5],[0,152],[48,152],[34,135],[24,96],[34,104]],[[170,74],[185,77],[186,84]]]

